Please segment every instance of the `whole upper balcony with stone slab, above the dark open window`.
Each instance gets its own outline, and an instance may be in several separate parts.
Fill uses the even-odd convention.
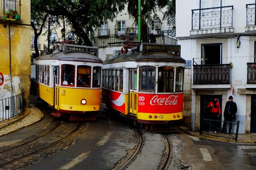
[[[192,10],[191,37],[226,36],[233,33],[233,6]]]

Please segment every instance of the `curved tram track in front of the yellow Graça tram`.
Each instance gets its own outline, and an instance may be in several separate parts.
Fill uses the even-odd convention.
[[[59,122],[55,126],[55,128],[47,131],[46,133],[40,135],[39,137],[31,139],[30,141],[27,141],[18,146],[12,147],[8,150],[1,151],[0,168],[7,168],[7,169],[12,168],[12,167],[8,167],[8,165],[11,165],[12,163],[18,162],[18,161],[22,162],[24,158],[28,158],[29,156],[38,154],[39,152],[43,152],[43,151],[47,152],[48,148],[56,146],[57,144],[65,141],[65,139],[68,139],[69,137],[71,137],[74,133],[76,133],[76,131],[78,131],[81,128],[81,125],[82,125],[81,123],[76,124],[76,126],[73,127],[72,129],[68,125],[64,125],[63,127],[59,128],[60,127],[60,122]],[[70,128],[70,130],[65,132],[66,134],[60,134],[60,130],[63,128],[67,128],[67,126],[68,128]],[[54,133],[54,131],[58,128],[59,128],[59,131],[57,130],[55,134],[51,134],[51,133]],[[51,134],[55,139],[49,139],[49,137],[47,137],[47,135],[49,134]],[[47,138],[49,139],[49,141],[46,141]]]

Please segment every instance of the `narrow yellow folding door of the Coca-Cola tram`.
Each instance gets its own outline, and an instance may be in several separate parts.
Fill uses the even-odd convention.
[[[137,70],[131,69],[129,82],[129,113],[136,115],[138,108],[138,94],[137,94]]]

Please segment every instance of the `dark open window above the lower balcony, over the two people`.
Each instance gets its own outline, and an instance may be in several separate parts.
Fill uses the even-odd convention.
[[[220,65],[222,54],[222,44],[202,44],[201,64]]]

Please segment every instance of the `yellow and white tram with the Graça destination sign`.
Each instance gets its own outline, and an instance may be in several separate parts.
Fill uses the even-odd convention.
[[[54,108],[52,116],[82,120],[100,111],[98,48],[59,44],[52,54],[36,58],[35,64],[36,94]]]

